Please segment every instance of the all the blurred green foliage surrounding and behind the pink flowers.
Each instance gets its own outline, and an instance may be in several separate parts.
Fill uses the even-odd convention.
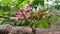
[[[32,1],[32,3],[31,3],[31,1]],[[60,0],[58,0],[58,1],[60,1]],[[15,0],[15,1],[2,0],[2,1],[0,1],[0,16],[16,17],[13,10],[20,11],[20,8],[23,8],[26,4],[29,4],[30,6],[32,6],[34,8],[36,8],[38,6],[38,4],[40,4],[41,12],[45,12],[48,10],[44,7],[44,0]],[[56,5],[55,8],[60,10],[59,6],[60,5]],[[30,14],[34,15],[35,12],[31,11]],[[37,28],[48,28],[49,24],[51,24],[51,19],[41,20],[43,18],[42,14],[39,16],[39,18],[38,18],[38,16],[35,16],[34,18],[35,18],[34,20],[27,19],[29,22],[31,22],[31,26],[33,26],[37,20],[38,20],[38,24],[36,25]],[[56,18],[55,20],[57,20],[59,22],[60,18],[58,18],[58,19]],[[16,22],[16,21],[12,21],[12,20],[6,19],[6,18],[0,18],[0,21],[1,21],[0,25],[1,24],[14,24]],[[26,20],[17,21],[16,24],[17,24],[16,26],[28,26],[28,23]]]

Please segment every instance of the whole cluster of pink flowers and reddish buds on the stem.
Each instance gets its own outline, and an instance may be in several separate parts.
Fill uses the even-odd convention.
[[[29,5],[27,5],[27,6],[25,7],[25,14],[24,14],[23,12],[15,12],[15,14],[17,15],[17,19],[16,19],[16,20],[17,20],[17,21],[18,21],[18,20],[23,20],[24,18],[34,19],[34,17],[37,16],[37,14],[38,14],[38,16],[41,15],[41,14],[40,14],[40,13],[41,13],[40,10],[37,11],[37,14],[31,15],[31,14],[30,14],[31,10],[32,10],[32,7],[29,6]],[[47,11],[47,12],[44,12],[42,15],[46,15],[46,14],[48,14],[48,11]]]

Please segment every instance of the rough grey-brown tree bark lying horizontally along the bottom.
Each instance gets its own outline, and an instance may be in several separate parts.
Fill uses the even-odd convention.
[[[38,29],[36,34],[49,34],[59,29]],[[0,25],[0,34],[33,34],[32,29],[28,26],[11,26],[9,24]],[[53,34],[53,33],[52,33]]]

